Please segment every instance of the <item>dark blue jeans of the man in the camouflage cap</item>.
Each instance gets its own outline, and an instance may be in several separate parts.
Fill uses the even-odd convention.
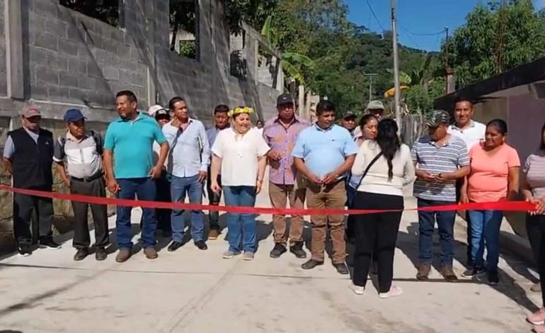
[[[435,205],[450,205],[453,202],[431,201],[418,198],[418,208],[432,207]],[[435,231],[435,221],[439,229],[441,244],[441,265],[452,266],[452,257],[454,256],[454,219],[456,211],[419,211],[419,237],[418,249],[420,251],[419,259],[421,264],[431,264],[433,261],[432,237]]]

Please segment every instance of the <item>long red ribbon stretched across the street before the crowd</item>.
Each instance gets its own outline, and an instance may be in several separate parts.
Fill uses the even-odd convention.
[[[296,208],[262,208],[223,205],[200,205],[197,203],[164,203],[160,201],[139,201],[118,198],[103,198],[98,196],[82,196],[81,194],[69,194],[49,191],[28,190],[0,185],[0,190],[14,193],[52,198],[59,200],[78,201],[82,203],[98,203],[100,205],[121,205],[127,207],[164,208],[180,210],[217,210],[227,213],[239,214],[278,214],[278,215],[362,215],[373,213],[398,212],[399,210],[379,209],[296,209]],[[411,208],[406,210],[420,211],[446,211],[446,210],[503,210],[513,212],[528,212],[536,209],[536,203],[526,201],[495,201],[490,203],[463,203],[452,205],[437,205],[432,207]]]

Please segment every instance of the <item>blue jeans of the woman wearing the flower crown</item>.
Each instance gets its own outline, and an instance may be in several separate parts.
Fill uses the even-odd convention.
[[[256,188],[253,186],[224,186],[225,205],[253,207]],[[256,215],[227,213],[229,251],[256,252]]]

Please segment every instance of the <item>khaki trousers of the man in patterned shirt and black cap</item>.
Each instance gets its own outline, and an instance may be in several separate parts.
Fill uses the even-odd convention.
[[[272,208],[286,208],[289,201],[290,208],[304,208],[305,188],[296,189],[293,185],[281,185],[269,182],[269,197]],[[272,226],[274,227],[274,239],[276,244],[287,244],[287,223],[285,215],[272,215]],[[292,215],[292,223],[289,225],[290,245],[303,241],[304,220],[302,215]]]

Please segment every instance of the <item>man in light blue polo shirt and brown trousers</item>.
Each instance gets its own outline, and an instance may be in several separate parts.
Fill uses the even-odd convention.
[[[335,106],[321,101],[316,106],[318,120],[302,130],[292,151],[295,167],[306,179],[306,205],[309,209],[343,209],[346,203],[345,177],[354,163],[357,145],[350,132],[335,125]],[[333,241],[333,266],[348,274],[343,215],[313,215],[311,259],[302,269],[323,264],[329,224]]]

